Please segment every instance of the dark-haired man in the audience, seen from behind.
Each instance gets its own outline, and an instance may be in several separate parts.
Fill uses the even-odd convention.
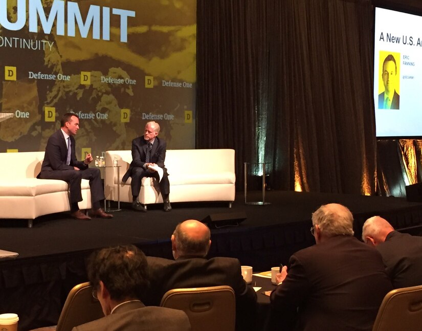
[[[145,307],[139,300],[148,286],[144,253],[133,245],[100,250],[88,264],[88,278],[105,317],[73,331],[189,331],[183,311]]]

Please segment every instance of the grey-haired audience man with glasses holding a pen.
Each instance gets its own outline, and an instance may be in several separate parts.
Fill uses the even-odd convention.
[[[379,252],[353,237],[353,216],[339,204],[312,215],[317,245],[290,258],[271,293],[284,330],[372,329],[384,296],[392,289]]]

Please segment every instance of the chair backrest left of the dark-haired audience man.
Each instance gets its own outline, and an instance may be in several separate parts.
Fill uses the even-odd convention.
[[[101,304],[92,296],[89,282],[76,285],[64,302],[56,331],[71,331],[73,327],[104,317]]]

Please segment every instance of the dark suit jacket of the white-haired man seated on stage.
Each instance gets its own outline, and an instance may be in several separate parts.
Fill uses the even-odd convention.
[[[130,162],[129,169],[123,176],[123,182],[126,182],[129,176],[131,176],[132,169],[134,167],[144,167],[147,145],[148,142],[145,141],[144,136],[132,140],[132,162]],[[159,167],[164,169],[165,173],[167,173],[167,169],[164,166],[164,160],[166,159],[166,150],[166,142],[156,137],[154,140],[154,144],[152,145],[149,157],[149,162],[156,163]]]

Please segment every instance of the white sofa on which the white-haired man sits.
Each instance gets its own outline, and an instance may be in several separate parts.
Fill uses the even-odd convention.
[[[106,151],[105,165],[113,165],[115,157],[120,174],[117,175],[117,168],[106,168],[106,199],[118,201],[119,189],[120,201],[132,202],[131,178],[122,183],[132,161],[131,151]],[[169,174],[170,202],[227,201],[231,207],[236,181],[233,149],[171,149],[167,150],[165,165]],[[146,205],[162,203],[159,190],[155,179],[143,178],[139,201]]]

